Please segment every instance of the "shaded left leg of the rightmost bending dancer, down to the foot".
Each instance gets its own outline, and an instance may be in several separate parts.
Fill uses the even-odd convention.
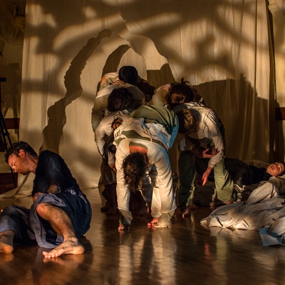
[[[196,182],[195,155],[189,150],[182,151],[178,159],[179,206],[183,217],[190,215],[194,207],[193,196]]]

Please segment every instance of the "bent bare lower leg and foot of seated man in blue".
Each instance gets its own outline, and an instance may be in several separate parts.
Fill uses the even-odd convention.
[[[72,222],[68,215],[59,207],[43,202],[37,205],[37,213],[46,220],[52,229],[63,237],[63,242],[49,252],[43,254],[47,258],[58,257],[62,254],[81,254],[84,247],[78,241]]]

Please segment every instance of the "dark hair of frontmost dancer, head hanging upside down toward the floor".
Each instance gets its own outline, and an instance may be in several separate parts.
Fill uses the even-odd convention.
[[[123,161],[124,178],[129,190],[136,191],[139,187],[140,180],[145,174],[144,154],[135,152],[129,154]]]

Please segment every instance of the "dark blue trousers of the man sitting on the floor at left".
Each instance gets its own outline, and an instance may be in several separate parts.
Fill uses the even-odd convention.
[[[56,247],[63,238],[51,228],[50,224],[36,213],[39,203],[50,203],[59,207],[70,218],[76,237],[83,236],[90,228],[92,209],[89,201],[72,192],[61,192],[57,195],[40,195],[31,209],[21,206],[7,206],[0,215],[0,232],[14,231],[15,240],[27,243],[37,240],[42,247]]]

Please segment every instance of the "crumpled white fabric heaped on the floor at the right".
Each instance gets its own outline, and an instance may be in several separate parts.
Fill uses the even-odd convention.
[[[201,224],[210,227],[260,230],[264,246],[283,244],[285,235],[285,197],[267,182],[252,191],[247,201],[221,206]]]

